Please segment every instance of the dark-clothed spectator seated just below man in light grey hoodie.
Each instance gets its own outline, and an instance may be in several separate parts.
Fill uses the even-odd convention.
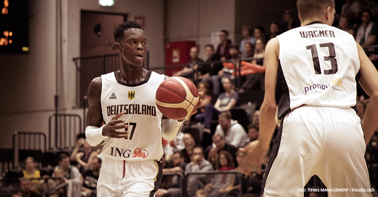
[[[214,134],[213,137],[213,144],[208,146],[205,150],[205,156],[207,157],[207,161],[215,166],[216,158],[218,157],[219,152],[221,151],[228,151],[231,154],[234,163],[236,162],[236,152],[238,149],[228,143],[224,142],[223,135]]]

